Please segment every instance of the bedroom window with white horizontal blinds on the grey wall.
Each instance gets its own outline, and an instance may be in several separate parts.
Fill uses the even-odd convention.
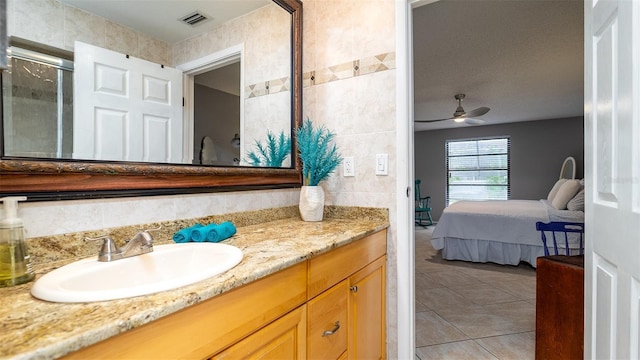
[[[447,206],[510,197],[508,137],[447,140]]]

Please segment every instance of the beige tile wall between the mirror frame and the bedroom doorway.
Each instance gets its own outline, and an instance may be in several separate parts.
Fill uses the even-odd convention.
[[[389,208],[387,341],[396,344],[396,71],[394,0],[303,0],[303,117],[336,134],[355,176],[342,169],[321,184],[333,205]],[[314,77],[314,80],[311,78]],[[375,175],[376,154],[389,175]]]

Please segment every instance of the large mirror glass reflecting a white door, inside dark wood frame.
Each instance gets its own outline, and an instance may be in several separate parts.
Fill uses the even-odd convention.
[[[126,9],[113,1],[47,1],[39,2],[37,10],[29,9],[28,3],[14,3],[17,36],[37,46],[52,34],[63,34],[63,44],[46,45],[59,45],[75,54],[75,73],[69,73],[74,71],[73,62],[63,68],[58,65],[61,60],[42,60],[51,59],[49,54],[30,59],[25,57],[29,52],[13,52],[12,66],[3,77],[6,156],[203,164],[200,154],[206,138],[210,147],[205,154],[216,154],[206,165],[251,165],[246,153],[256,141],[266,139],[267,130],[291,133],[291,14],[270,0],[243,1],[233,8],[228,1],[217,0],[129,1]],[[56,7],[64,10],[64,23],[48,24],[46,34],[39,27],[19,31],[19,24],[31,20],[33,12],[27,10],[48,13]],[[209,19],[208,14],[215,14],[217,23],[205,19],[193,26],[178,21],[176,14],[194,12]],[[27,14],[29,19],[22,19]],[[235,18],[222,22],[223,14]],[[149,22],[150,18],[155,21]],[[116,27],[126,32],[127,26],[134,26],[141,31],[138,41],[152,42],[153,47],[136,52],[127,41],[132,30],[128,37],[113,36],[105,42],[95,33],[73,33],[69,23],[91,29],[104,23],[107,36],[116,33]],[[154,38],[158,36],[161,39]],[[230,47],[240,49],[239,68],[219,66],[212,59],[189,72],[193,69],[187,64]],[[188,88],[181,96],[182,79],[170,66],[185,70],[187,77],[197,75],[198,86],[193,80],[185,82]],[[236,75],[225,74],[228,69]],[[219,74],[218,81],[202,81],[203,71]],[[65,76],[57,78],[55,74],[61,72]],[[143,87],[138,89],[138,83]],[[207,94],[212,98],[204,98]],[[238,104],[235,110],[228,106],[232,103]],[[69,121],[73,126],[64,126]],[[33,128],[40,130],[33,132]],[[74,132],[83,135],[74,137]],[[242,139],[239,148],[230,146],[235,134]],[[289,159],[284,166],[290,165]]]

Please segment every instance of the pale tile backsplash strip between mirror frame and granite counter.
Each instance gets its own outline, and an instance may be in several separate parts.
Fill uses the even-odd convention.
[[[299,189],[20,203],[27,238],[296,205]],[[4,217],[0,209],[0,219]]]

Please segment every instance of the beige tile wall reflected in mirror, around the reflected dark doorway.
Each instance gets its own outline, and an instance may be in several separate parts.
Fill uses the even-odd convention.
[[[266,141],[265,129],[276,135],[289,134],[291,129],[290,24],[291,15],[272,3],[173,45],[175,66],[242,45],[244,116],[251,119],[244,122],[240,134],[243,165],[255,141]]]

